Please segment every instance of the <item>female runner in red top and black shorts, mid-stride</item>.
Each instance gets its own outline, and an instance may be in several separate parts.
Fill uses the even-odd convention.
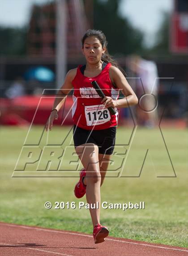
[[[111,115],[108,107],[126,108],[138,103],[136,94],[123,73],[107,51],[106,36],[102,31],[89,29],[82,38],[82,52],[86,65],[68,71],[64,84],[55,99],[46,130],[51,130],[53,121],[66,95],[74,89],[72,117],[75,151],[84,169],[74,193],[81,198],[86,193],[93,222],[94,243],[102,243],[109,234],[100,224],[100,186],[103,184],[111,154],[115,145],[117,115]],[[96,80],[106,97],[101,100],[91,82]],[[118,99],[119,91],[124,94]],[[61,97],[61,99],[60,99]],[[62,99],[63,98],[63,99]]]

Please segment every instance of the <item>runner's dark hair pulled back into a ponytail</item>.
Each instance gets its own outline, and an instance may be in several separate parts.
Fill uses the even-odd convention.
[[[105,53],[102,55],[101,57],[101,60],[106,62],[106,63],[111,63],[112,66],[115,66],[117,68],[120,69],[120,71],[124,74],[124,70],[118,66],[118,63],[115,61],[114,58],[111,57],[111,55],[108,53],[108,49],[107,49],[107,38],[105,36],[105,34],[103,33],[103,31],[101,30],[96,30],[96,29],[88,29],[85,33],[85,35],[83,36],[82,38],[82,48],[84,47],[84,42],[85,42],[85,39],[90,37],[90,36],[95,36],[96,38],[98,38],[98,40],[100,41],[102,47],[106,47],[106,51]]]

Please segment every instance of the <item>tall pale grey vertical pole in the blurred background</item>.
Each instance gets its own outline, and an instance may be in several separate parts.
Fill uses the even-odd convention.
[[[64,82],[67,71],[67,1],[56,0],[56,88]]]

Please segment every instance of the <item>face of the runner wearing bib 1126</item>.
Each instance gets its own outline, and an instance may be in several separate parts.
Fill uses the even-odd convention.
[[[90,64],[98,63],[105,50],[106,48],[102,48],[100,41],[95,36],[87,37],[82,48],[86,61]]]

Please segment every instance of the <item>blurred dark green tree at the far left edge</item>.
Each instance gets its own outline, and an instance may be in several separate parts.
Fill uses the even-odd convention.
[[[26,54],[26,36],[26,27],[0,27],[0,55]]]

